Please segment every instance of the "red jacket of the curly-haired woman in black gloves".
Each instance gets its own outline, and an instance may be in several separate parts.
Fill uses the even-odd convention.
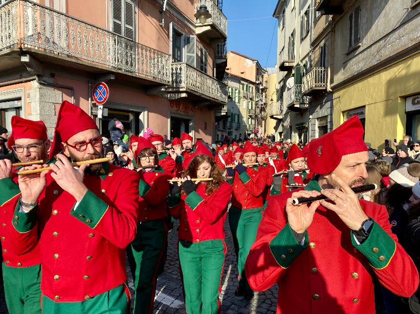
[[[206,183],[199,183],[181,202],[170,207],[171,215],[180,220],[178,238],[188,242],[225,239],[225,220],[231,186],[224,182],[211,195],[206,195]]]

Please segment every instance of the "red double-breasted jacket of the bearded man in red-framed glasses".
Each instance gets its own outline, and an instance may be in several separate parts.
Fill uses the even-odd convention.
[[[39,206],[15,211],[14,249],[26,253],[38,243],[41,290],[57,302],[80,302],[127,280],[126,247],[136,236],[139,176],[104,163],[101,176],[85,175],[88,192],[79,202],[47,175]],[[45,226],[36,211],[49,214]],[[16,219],[17,218],[17,219]]]

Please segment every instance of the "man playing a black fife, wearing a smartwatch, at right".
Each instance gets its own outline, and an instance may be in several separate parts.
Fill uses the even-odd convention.
[[[251,288],[279,284],[277,313],[375,313],[373,280],[394,294],[417,289],[417,270],[391,233],[384,206],[351,187],[367,177],[363,127],[353,117],[311,140],[304,189],[271,196],[245,264]],[[293,205],[292,198],[329,199]]]

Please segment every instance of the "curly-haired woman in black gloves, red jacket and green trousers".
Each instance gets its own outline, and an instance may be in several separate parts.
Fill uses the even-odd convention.
[[[187,314],[220,313],[219,294],[226,255],[225,230],[231,186],[211,153],[197,146],[186,178],[170,192],[171,214],[179,219],[179,259]],[[194,183],[190,178],[212,178]]]

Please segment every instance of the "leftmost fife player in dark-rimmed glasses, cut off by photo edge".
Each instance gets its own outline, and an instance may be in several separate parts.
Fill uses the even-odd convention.
[[[7,146],[20,162],[48,159],[50,141],[42,121],[26,120],[13,116],[12,134]],[[0,237],[3,252],[3,282],[6,304],[10,314],[41,313],[41,256],[39,245],[25,254],[13,252],[12,238],[15,235],[12,218],[20,190],[17,175],[20,167],[11,168],[10,160],[0,160]],[[38,212],[38,215],[45,213]],[[48,216],[49,217],[49,216]],[[47,217],[43,217],[46,220]]]

